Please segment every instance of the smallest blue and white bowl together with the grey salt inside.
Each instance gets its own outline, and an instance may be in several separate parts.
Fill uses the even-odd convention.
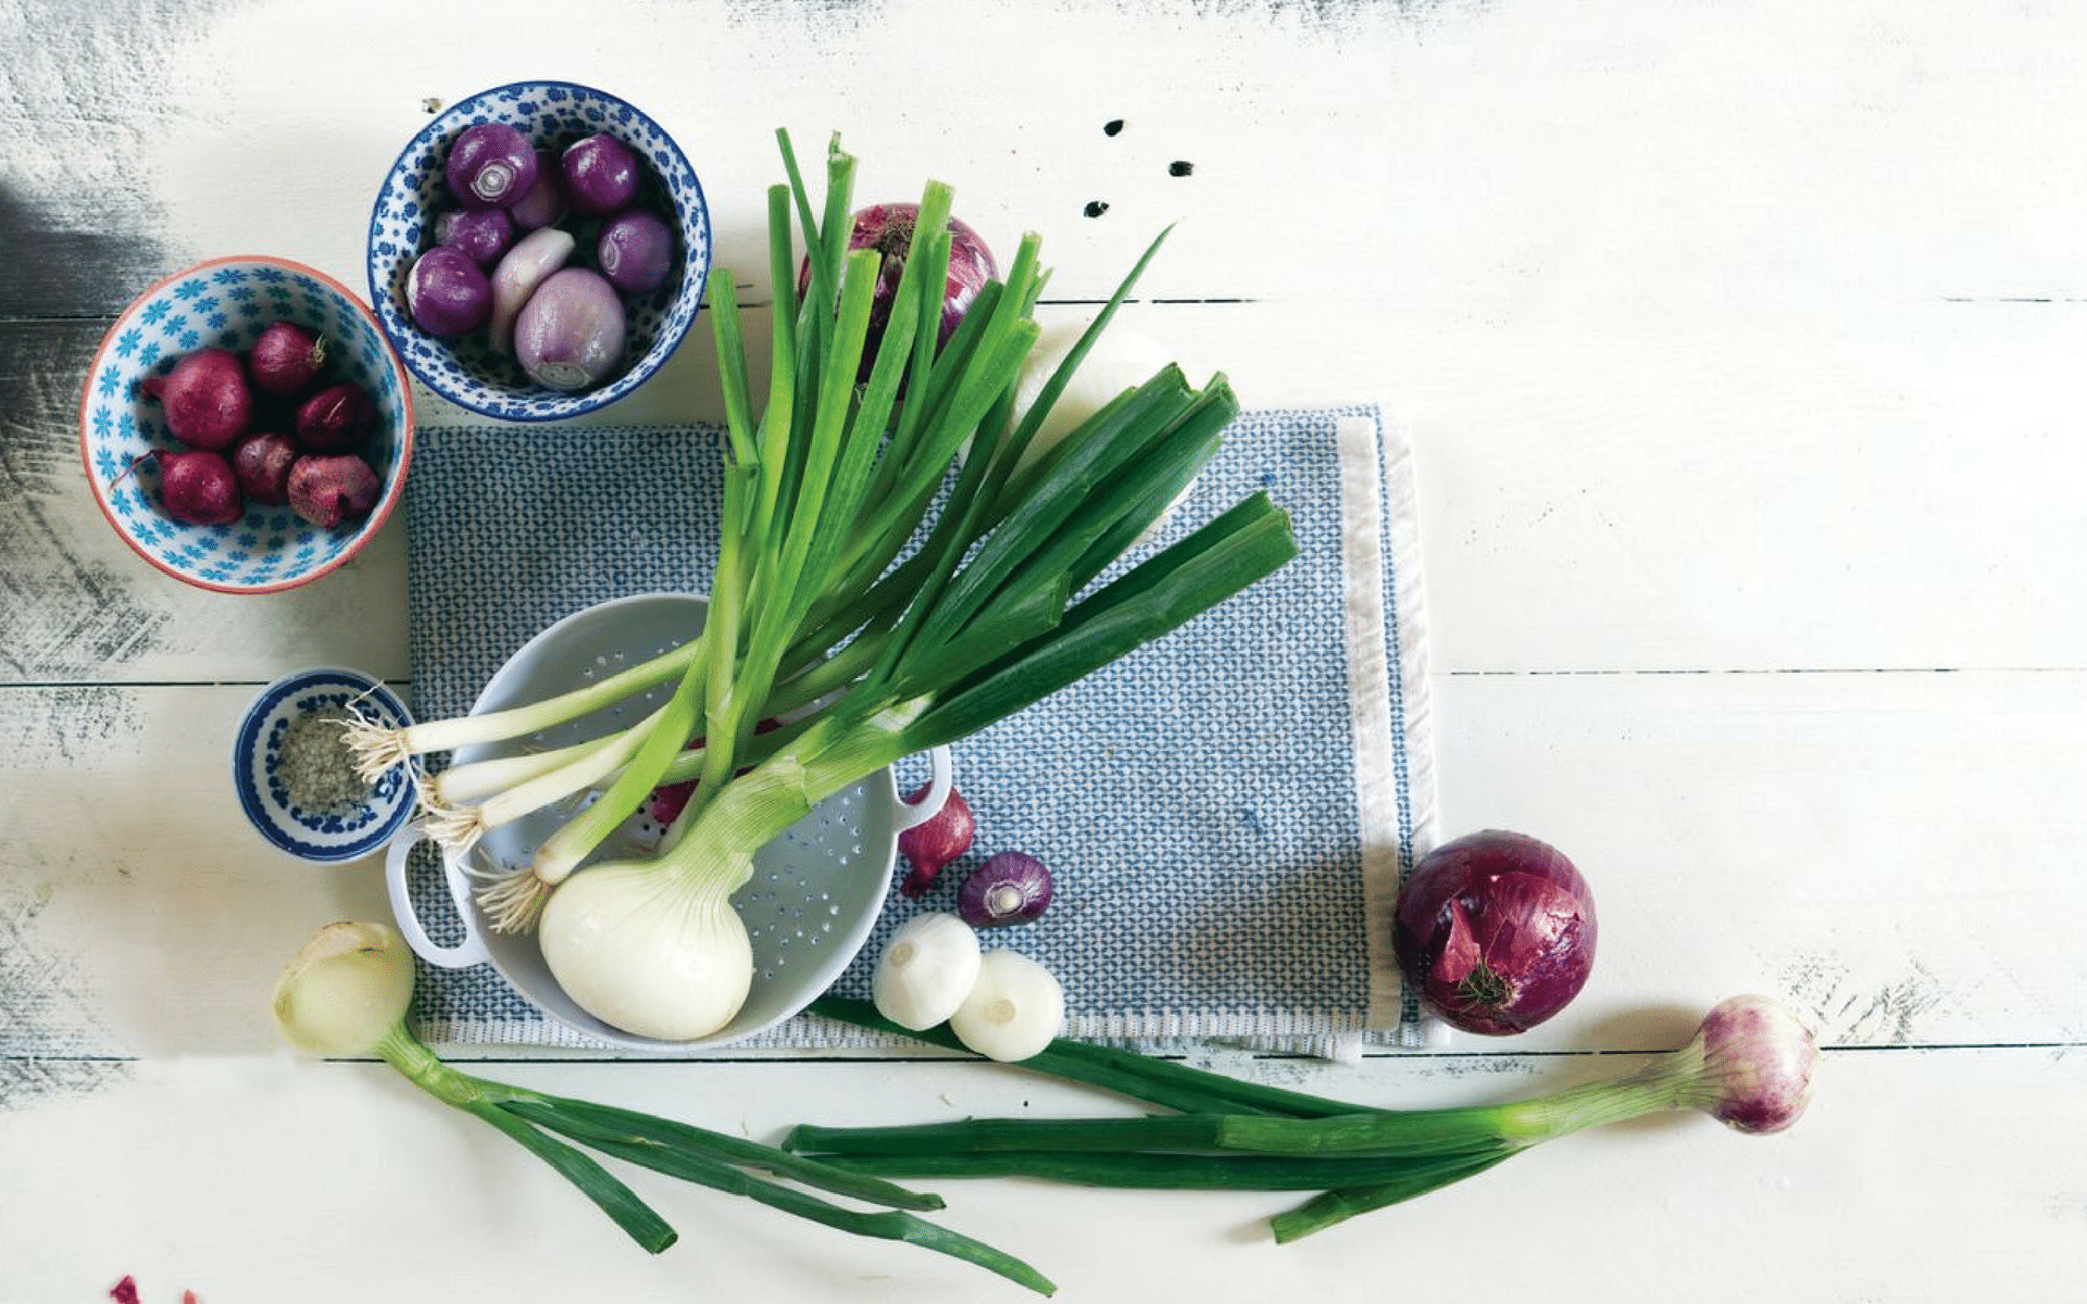
[[[232,743],[232,787],[255,830],[280,851],[313,864],[369,855],[405,826],[415,789],[405,764],[376,782],[357,776],[344,724],[413,724],[380,680],[338,666],[296,670],[246,707]]]

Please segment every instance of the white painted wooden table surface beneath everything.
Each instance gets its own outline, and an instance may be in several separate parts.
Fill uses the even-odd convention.
[[[230,734],[298,666],[407,678],[405,538],[284,597],[167,580],[88,499],[77,386],[190,261],[361,284],[426,102],[515,77],[662,119],[745,269],[776,125],[1041,232],[1052,311],[1179,219],[1140,330],[1409,432],[1440,828],[1569,847],[1601,964],[1515,1041],[1231,1068],[1503,1100],[1749,989],[1830,1047],[1780,1137],[1609,1129],[1296,1246],[1284,1196],[943,1183],[952,1225],[1094,1302],[2081,1298],[2083,50],[2058,0],[0,4],[0,1302],[1018,1294],[664,1181],[649,1260],[386,1068],[275,1043],[288,953],[386,908],[374,862],[244,828]],[[611,417],[718,415],[710,357]],[[755,1137],[1110,1108],[929,1058],[497,1074]]]

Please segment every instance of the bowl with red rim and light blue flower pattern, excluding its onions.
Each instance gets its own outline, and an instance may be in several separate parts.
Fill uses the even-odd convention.
[[[182,444],[138,382],[165,376],[184,353],[207,344],[242,353],[278,319],[326,336],[330,373],[369,394],[378,421],[359,453],[384,494],[367,517],[334,530],[261,503],[230,526],[173,520],[159,505],[159,469],[138,459]],[[340,282],[265,255],[213,259],[140,294],[102,336],[79,392],[79,455],[102,515],[140,557],[198,588],[278,593],[340,568],[399,505],[413,457],[411,382],[376,317]]]

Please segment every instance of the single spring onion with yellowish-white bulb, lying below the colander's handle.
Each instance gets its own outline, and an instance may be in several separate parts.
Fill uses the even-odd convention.
[[[271,1004],[275,1027],[292,1045],[317,1056],[380,1056],[428,1095],[482,1118],[551,1164],[651,1254],[674,1243],[674,1229],[580,1145],[854,1235],[950,1254],[1044,1296],[1056,1289],[1027,1262],[918,1216],[918,1210],[943,1206],[937,1196],[745,1137],[451,1068],[405,1027],[413,1004],[413,953],[388,924],[319,928],[282,972]]]

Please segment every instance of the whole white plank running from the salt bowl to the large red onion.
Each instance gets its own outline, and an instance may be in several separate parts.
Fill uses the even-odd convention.
[[[1603,928],[1572,1008],[1459,1045],[1645,1049],[1676,1010],[1738,991],[1791,999],[1841,1045],[2087,1041],[2087,960],[2052,941],[2087,933],[2070,853],[2087,676],[1438,689],[1442,835],[1553,841]],[[309,868],[246,830],[223,757],[248,697],[0,693],[17,739],[0,759],[0,1054],[250,1054],[296,945],[332,918],[386,918],[374,858]]]

